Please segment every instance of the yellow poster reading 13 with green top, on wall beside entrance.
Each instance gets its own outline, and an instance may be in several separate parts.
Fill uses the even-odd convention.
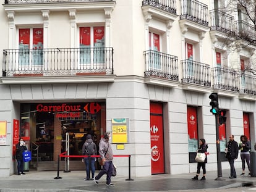
[[[113,143],[127,143],[127,120],[112,120],[112,141]]]

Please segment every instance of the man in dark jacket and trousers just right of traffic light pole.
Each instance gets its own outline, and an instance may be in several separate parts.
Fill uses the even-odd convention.
[[[228,159],[230,165],[230,177],[236,178],[236,169],[234,168],[234,160],[237,159],[238,156],[238,144],[234,140],[234,135],[229,136],[228,141],[228,152],[226,154],[226,158]]]

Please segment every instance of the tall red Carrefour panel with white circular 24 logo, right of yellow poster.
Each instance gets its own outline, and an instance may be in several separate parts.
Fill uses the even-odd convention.
[[[152,109],[152,111],[151,111]],[[164,173],[163,105],[150,103],[151,173]],[[155,113],[156,112],[156,113]]]

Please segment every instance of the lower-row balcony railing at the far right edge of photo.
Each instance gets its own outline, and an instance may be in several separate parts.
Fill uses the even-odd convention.
[[[247,74],[246,71],[241,72],[241,88],[240,93],[256,95],[256,77]]]

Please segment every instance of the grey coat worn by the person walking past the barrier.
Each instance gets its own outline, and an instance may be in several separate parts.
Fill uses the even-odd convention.
[[[106,155],[105,155],[105,153],[106,153]],[[105,138],[101,138],[101,140],[100,140],[99,154],[102,159],[103,158],[106,159],[106,162],[113,161],[113,150],[112,150],[111,144],[109,144],[108,140],[106,140]]]

